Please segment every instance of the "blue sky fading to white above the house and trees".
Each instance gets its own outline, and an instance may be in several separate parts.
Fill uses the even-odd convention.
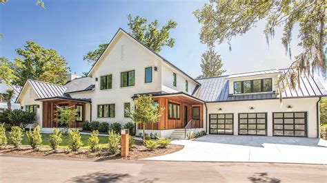
[[[175,46],[163,47],[159,54],[190,76],[201,74],[201,54],[208,47],[200,43],[201,25],[192,12],[206,1],[108,1],[108,0],[43,0],[46,9],[35,6],[35,0],[9,0],[0,3],[0,56],[13,60],[19,57],[14,51],[35,41],[42,47],[54,49],[62,55],[72,72],[88,72],[91,65],[83,55],[108,43],[119,28],[130,32],[127,14],[139,15],[148,22],[158,19],[161,25],[172,19],[177,28],[171,30]],[[252,72],[288,67],[300,51],[297,47],[297,26],[291,44],[292,58],[281,44],[282,28],[268,45],[264,35],[264,21],[246,34],[237,36],[228,44],[217,45],[225,74]]]

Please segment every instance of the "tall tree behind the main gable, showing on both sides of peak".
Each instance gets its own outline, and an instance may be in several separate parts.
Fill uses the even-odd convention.
[[[175,21],[169,20],[168,23],[159,29],[159,21],[155,20],[151,23],[147,23],[148,20],[142,17],[132,17],[128,14],[128,26],[130,27],[130,34],[137,39],[137,41],[143,43],[144,45],[150,47],[150,49],[155,52],[160,52],[161,47],[168,46],[173,47],[175,44],[175,39],[170,38],[170,30],[176,28],[177,23]],[[99,45],[97,50],[88,52],[88,54],[83,56],[84,61],[88,61],[94,64],[101,54],[106,50],[108,43]]]

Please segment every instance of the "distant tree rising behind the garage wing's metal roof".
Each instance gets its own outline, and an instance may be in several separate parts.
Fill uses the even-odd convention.
[[[221,76],[226,70],[221,69],[223,63],[221,63],[220,55],[213,50],[213,47],[210,47],[204,54],[201,56],[201,69],[202,75],[197,78],[208,78]]]

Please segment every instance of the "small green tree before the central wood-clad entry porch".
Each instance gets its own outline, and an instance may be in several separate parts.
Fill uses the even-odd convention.
[[[159,121],[164,111],[164,108],[158,109],[153,103],[151,95],[138,95],[137,100],[134,100],[135,109],[128,111],[130,118],[137,124],[142,125],[143,140],[146,139],[146,124]]]

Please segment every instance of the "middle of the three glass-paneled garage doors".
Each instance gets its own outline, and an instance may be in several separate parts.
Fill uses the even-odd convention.
[[[267,135],[266,113],[241,113],[239,114],[239,135]]]

